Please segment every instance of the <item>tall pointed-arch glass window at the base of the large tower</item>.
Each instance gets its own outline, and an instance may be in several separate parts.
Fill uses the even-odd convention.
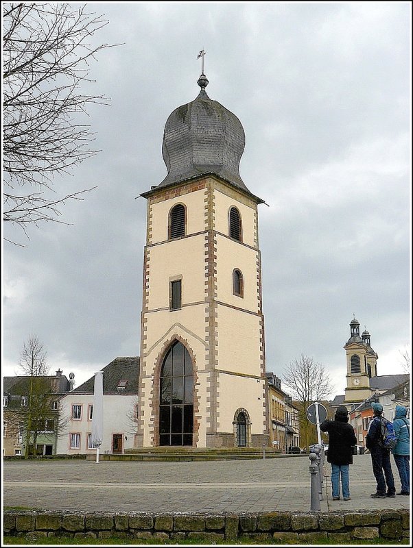
[[[193,367],[179,341],[163,360],[160,380],[159,445],[192,445]]]

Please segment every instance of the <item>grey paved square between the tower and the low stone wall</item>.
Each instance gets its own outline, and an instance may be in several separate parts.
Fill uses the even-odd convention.
[[[370,455],[350,466],[351,501],[332,501],[330,465],[322,512],[410,508],[410,497],[371,499]],[[88,512],[270,512],[310,510],[308,456],[211,462],[3,462],[3,504]],[[392,462],[397,490],[397,468]]]

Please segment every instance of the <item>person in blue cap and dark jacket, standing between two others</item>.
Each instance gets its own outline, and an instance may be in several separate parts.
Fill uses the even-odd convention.
[[[366,436],[366,447],[371,454],[373,474],[375,475],[377,488],[372,493],[372,499],[386,499],[396,497],[392,465],[390,464],[390,449],[384,447],[381,441],[381,418],[383,417],[383,406],[381,403],[372,403],[373,419],[370,421]],[[387,492],[386,492],[387,485]]]

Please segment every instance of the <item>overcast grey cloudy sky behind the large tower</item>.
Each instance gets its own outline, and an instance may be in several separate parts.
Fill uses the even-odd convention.
[[[73,5],[76,5],[73,3]],[[36,334],[51,373],[79,386],[117,356],[139,356],[147,201],[167,170],[169,114],[200,88],[246,134],[240,174],[259,206],[266,368],[303,353],[344,394],[349,323],[370,332],[379,375],[410,352],[410,2],[89,3],[109,24],[95,83],[110,97],[88,122],[101,152],[56,179],[97,186],[64,221],[3,243],[3,375]],[[139,197],[136,199],[136,197]]]

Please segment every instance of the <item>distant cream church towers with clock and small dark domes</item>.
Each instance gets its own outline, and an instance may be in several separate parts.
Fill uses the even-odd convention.
[[[347,361],[344,403],[357,403],[370,397],[370,379],[377,375],[379,356],[370,346],[370,333],[364,331],[360,337],[359,327],[356,319],[350,322],[350,338],[344,345]]]

